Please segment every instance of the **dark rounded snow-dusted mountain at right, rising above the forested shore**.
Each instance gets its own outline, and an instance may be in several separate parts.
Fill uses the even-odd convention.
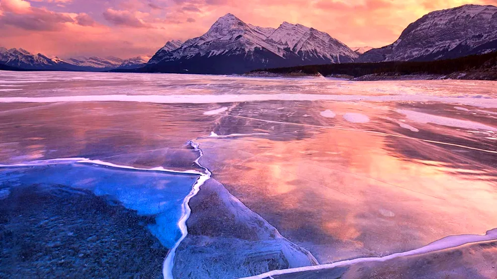
[[[497,7],[463,5],[430,12],[411,23],[399,39],[373,49],[357,62],[428,61],[497,51]]]

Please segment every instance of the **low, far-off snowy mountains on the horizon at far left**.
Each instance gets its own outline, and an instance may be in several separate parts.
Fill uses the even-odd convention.
[[[0,47],[0,64],[29,70],[104,71],[110,69],[135,69],[143,67],[143,57],[121,59],[117,57],[76,57],[67,60],[32,54],[23,49]]]

